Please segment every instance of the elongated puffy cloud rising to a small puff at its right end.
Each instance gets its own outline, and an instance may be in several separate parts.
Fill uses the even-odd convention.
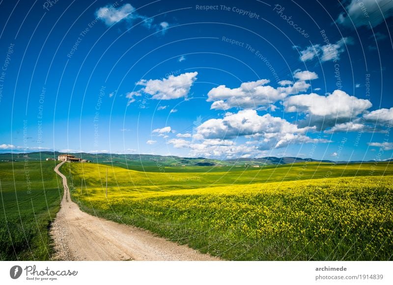
[[[279,82],[281,86],[277,88],[266,85],[270,82],[268,79],[243,82],[238,88],[220,85],[208,92],[206,101],[213,102],[210,108],[217,110],[228,110],[233,107],[243,109],[268,107],[288,95],[307,91],[311,85],[306,80],[316,79],[318,76],[314,72],[296,71],[294,78],[298,81],[293,83],[289,80],[282,80]]]

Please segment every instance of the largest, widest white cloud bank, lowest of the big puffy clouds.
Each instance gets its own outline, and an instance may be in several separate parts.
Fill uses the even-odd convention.
[[[186,148],[191,156],[203,157],[257,157],[272,149],[291,144],[326,143],[326,139],[308,136],[315,128],[298,128],[288,121],[270,114],[260,116],[256,110],[227,112],[222,119],[210,119],[200,124],[194,134],[178,134],[167,143],[174,148]],[[186,138],[192,137],[192,141]],[[241,137],[249,141],[238,144]]]

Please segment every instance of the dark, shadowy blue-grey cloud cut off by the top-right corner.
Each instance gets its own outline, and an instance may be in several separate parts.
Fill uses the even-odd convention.
[[[343,26],[375,27],[383,23],[385,19],[393,16],[392,0],[351,0],[346,7],[346,13],[341,13],[337,23]],[[367,14],[365,14],[367,13]]]

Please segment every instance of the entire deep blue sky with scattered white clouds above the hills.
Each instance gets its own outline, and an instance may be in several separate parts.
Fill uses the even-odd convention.
[[[0,13],[2,153],[392,157],[392,1],[2,1]]]

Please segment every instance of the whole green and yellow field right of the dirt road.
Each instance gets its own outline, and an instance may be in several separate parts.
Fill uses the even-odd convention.
[[[84,211],[222,259],[392,259],[392,163],[166,170],[93,163],[61,168]]]

